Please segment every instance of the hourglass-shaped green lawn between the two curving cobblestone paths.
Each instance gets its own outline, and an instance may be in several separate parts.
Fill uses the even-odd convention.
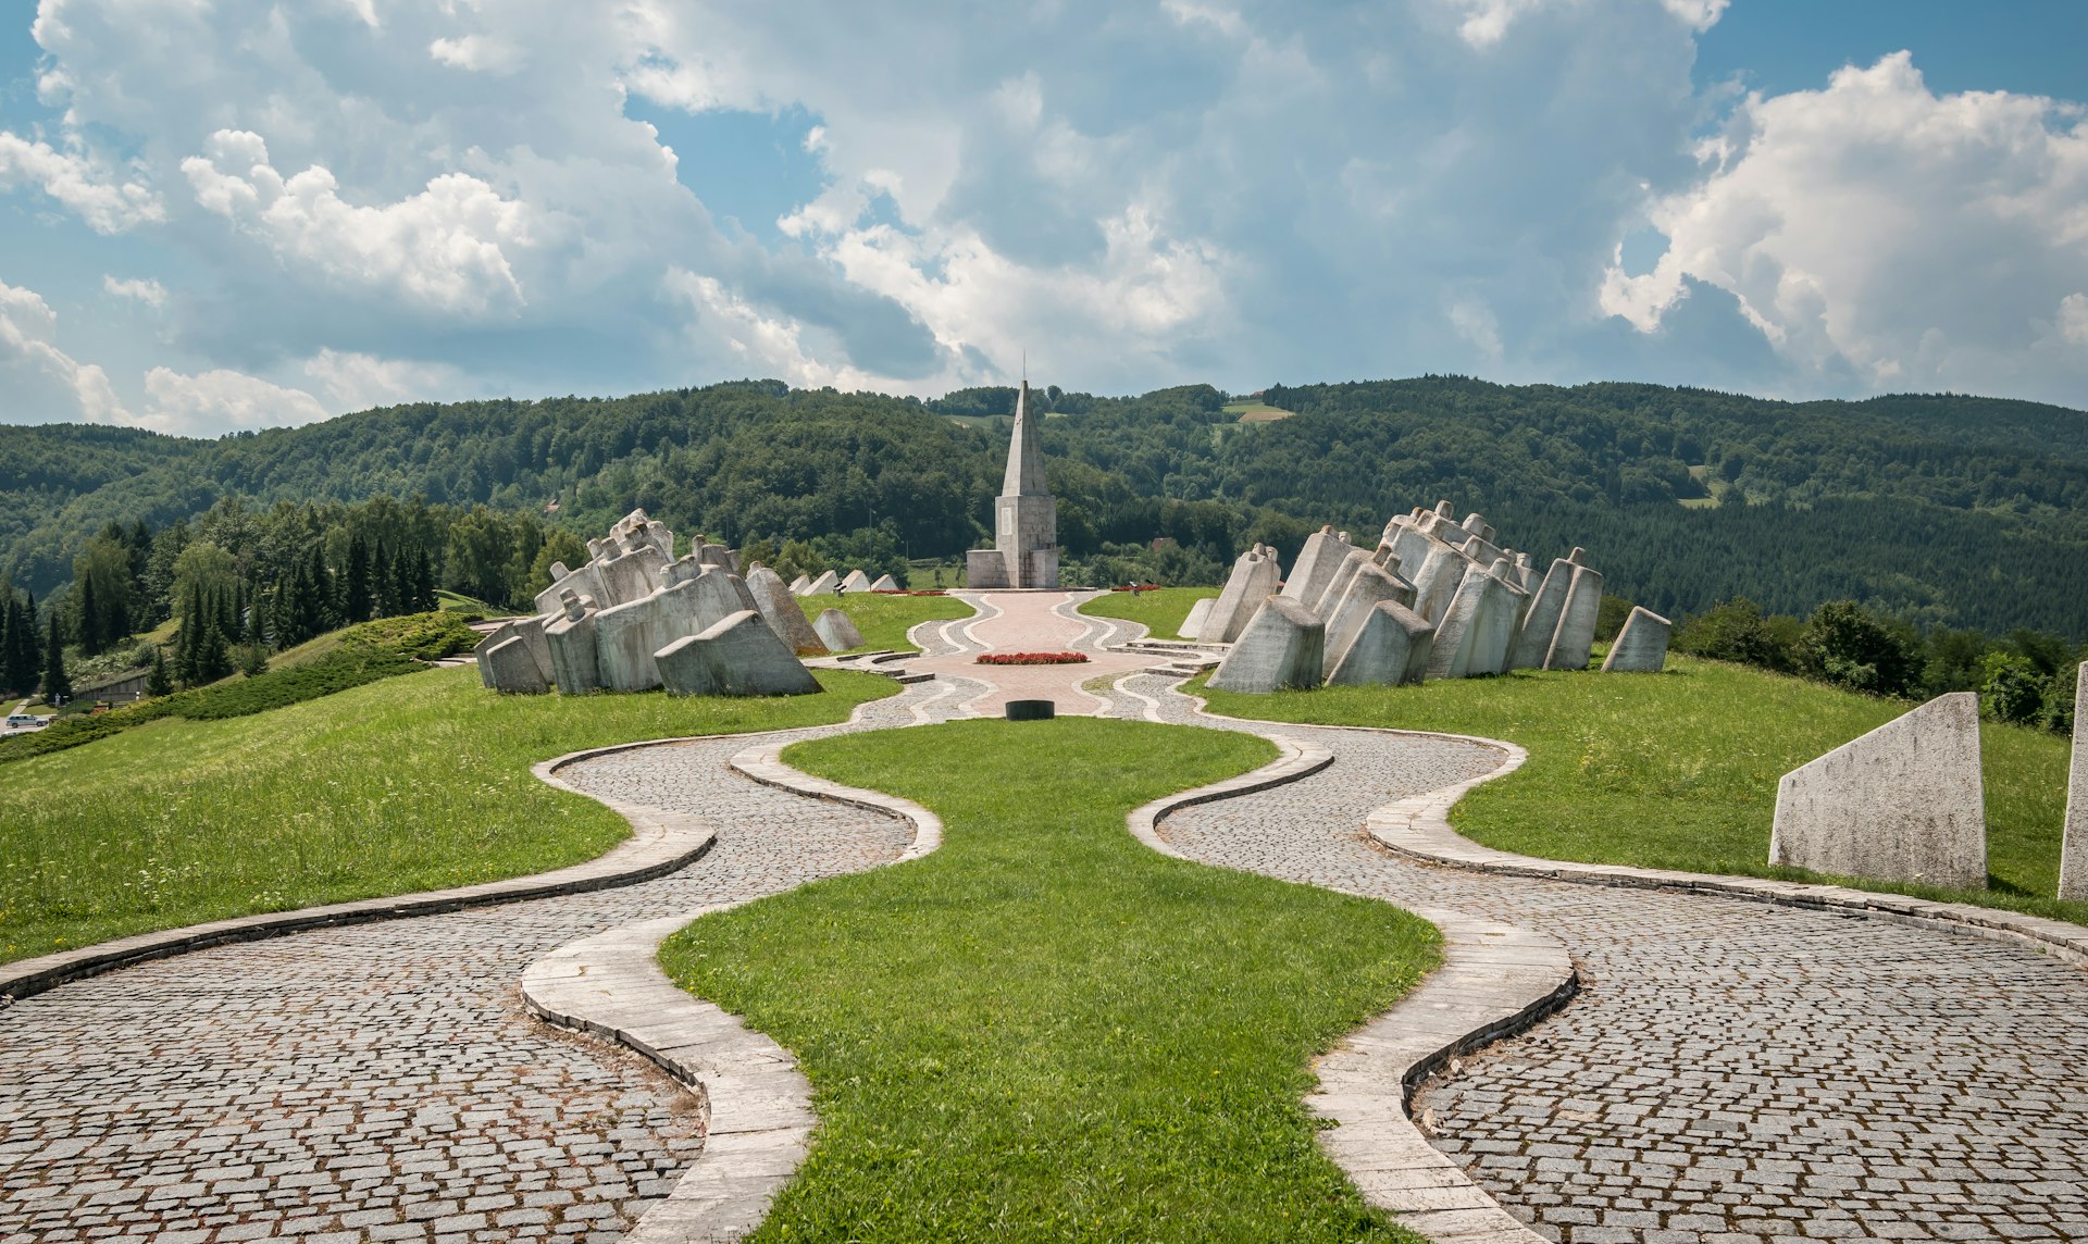
[[[1299,1098],[1315,1050],[1434,964],[1434,929],[1169,860],[1123,824],[1265,764],[1265,741],[1061,718],[785,758],[927,804],[946,837],[662,950],[816,1092],[812,1154],[758,1240],[1409,1238],[1320,1154]]]

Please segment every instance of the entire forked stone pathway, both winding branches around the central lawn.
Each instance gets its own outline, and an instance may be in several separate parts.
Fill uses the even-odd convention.
[[[1004,618],[1011,599],[983,612]],[[1021,645],[1100,651],[1136,632],[1054,616]],[[967,628],[981,620],[917,630],[917,668],[946,657],[950,674],[785,739],[988,710],[996,672],[969,666],[986,641]],[[1163,676],[1094,685],[1105,716],[1249,728],[1201,716]],[[1583,994],[1564,1012],[1416,1098],[1437,1148],[1537,1236],[2088,1238],[2088,973],[1835,912],[1426,866],[1374,845],[1363,818],[1491,770],[1495,749],[1255,728],[1334,764],[1176,812],[1159,827],[1169,847],[1570,948]],[[520,968],[908,845],[894,820],[731,774],[745,747],[645,747],[560,772],[714,824],[718,845],[672,877],[223,946],[0,1012],[0,1242],[618,1238],[702,1150],[702,1119],[649,1064],[528,1019]]]

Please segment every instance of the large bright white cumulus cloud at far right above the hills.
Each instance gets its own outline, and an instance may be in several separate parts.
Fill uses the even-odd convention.
[[[1938,96],[1898,52],[1825,90],[1748,98],[1702,159],[1695,186],[1650,209],[1658,263],[1608,269],[1606,313],[1652,332],[1693,280],[1731,292],[1814,376],[2065,392],[2032,349],[2088,284],[2080,109]]]

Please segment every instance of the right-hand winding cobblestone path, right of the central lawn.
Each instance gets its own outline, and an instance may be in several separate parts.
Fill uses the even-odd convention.
[[[1132,689],[1190,720],[1163,680]],[[2088,1240],[2082,968],[1885,920],[1409,862],[1370,843],[1366,814],[1487,772],[1495,753],[1261,728],[1336,762],[1178,812],[1167,841],[1543,929],[1572,952],[1585,987],[1566,1010],[1416,1098],[1434,1146],[1541,1236]]]

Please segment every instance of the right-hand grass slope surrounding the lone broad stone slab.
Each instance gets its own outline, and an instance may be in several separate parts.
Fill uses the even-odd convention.
[[[1746,666],[1668,655],[1662,674],[1535,672],[1420,687],[1320,687],[1276,695],[1196,689],[1213,712],[1282,722],[1399,726],[1508,739],[1531,760],[1451,812],[1466,837],[1547,860],[1812,879],[1769,866],[1777,779],[1904,714],[1873,699]],[[2088,923],[2059,902],[2067,741],[1982,722],[1992,889],[1835,879]]]

